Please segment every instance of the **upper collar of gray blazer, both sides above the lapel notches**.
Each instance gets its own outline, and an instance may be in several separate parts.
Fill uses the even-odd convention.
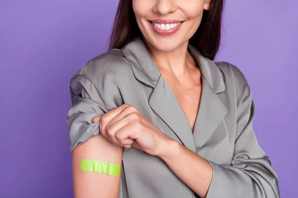
[[[136,37],[120,50],[130,62],[135,77],[140,82],[154,88],[161,73],[143,39]],[[190,44],[188,44],[188,50],[198,62],[203,77],[212,89],[216,93],[223,92],[225,90],[224,80],[217,65]]]

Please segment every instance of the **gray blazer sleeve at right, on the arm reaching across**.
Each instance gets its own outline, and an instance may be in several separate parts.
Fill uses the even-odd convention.
[[[207,198],[280,198],[278,176],[252,127],[255,108],[248,85],[241,101],[231,165],[207,160],[213,168]]]

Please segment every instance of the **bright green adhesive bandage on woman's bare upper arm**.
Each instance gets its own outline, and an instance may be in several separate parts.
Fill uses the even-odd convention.
[[[83,171],[104,173],[113,176],[118,176],[120,173],[119,164],[113,164],[107,161],[100,161],[94,159],[82,159],[80,167]]]

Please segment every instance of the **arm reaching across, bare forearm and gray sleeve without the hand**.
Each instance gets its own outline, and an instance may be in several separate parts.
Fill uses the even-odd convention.
[[[159,156],[201,198],[279,198],[278,177],[252,128],[254,103],[250,89],[238,107],[233,160],[220,165],[170,141]]]

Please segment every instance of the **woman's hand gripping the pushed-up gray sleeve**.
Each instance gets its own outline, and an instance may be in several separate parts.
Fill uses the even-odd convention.
[[[123,104],[92,118],[93,123],[98,121],[100,134],[115,145],[135,147],[150,155],[160,155],[167,148],[166,145],[174,141],[130,104]]]

